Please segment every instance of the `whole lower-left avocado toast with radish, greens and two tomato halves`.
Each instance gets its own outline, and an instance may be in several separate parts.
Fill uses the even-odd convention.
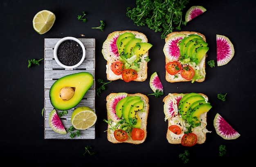
[[[147,136],[148,97],[141,93],[110,93],[106,97],[108,130],[112,143],[143,143]]]

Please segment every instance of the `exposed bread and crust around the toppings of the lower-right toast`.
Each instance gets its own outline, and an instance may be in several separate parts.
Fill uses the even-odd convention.
[[[166,95],[166,97],[164,97],[163,102],[168,103],[168,101],[170,101],[170,99],[172,99],[171,96],[177,95],[177,94],[178,93],[169,93],[168,95]],[[198,93],[198,94],[202,95],[204,97],[204,99],[206,101],[208,101],[208,97],[205,94],[202,94],[202,93]],[[176,105],[177,105],[177,103],[176,103]],[[194,128],[193,133],[195,133],[197,136],[197,143],[202,144],[206,140],[206,132],[210,132],[210,131],[207,131],[205,128],[207,125],[207,112],[204,112],[203,114],[201,114],[199,119],[201,120],[201,125]],[[173,117],[168,118],[168,126],[167,126],[167,132],[166,132],[166,138],[167,138],[168,142],[171,144],[180,144],[182,136],[184,135],[184,130],[182,130],[182,133],[180,135],[174,134],[168,128],[170,125],[175,125]]]

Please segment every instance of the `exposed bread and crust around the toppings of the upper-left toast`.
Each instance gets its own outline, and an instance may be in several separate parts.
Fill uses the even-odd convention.
[[[126,31],[114,31],[112,33],[110,33],[107,37],[107,40],[108,38],[115,34],[115,33],[119,33],[119,35],[123,34],[123,33],[133,33],[135,35],[135,38],[140,38],[141,39],[141,42],[148,42],[148,38],[146,37],[145,34],[143,33],[140,33],[138,31],[130,31],[130,30],[126,30]],[[140,71],[137,73],[138,74],[138,77],[137,79],[134,79],[132,81],[145,81],[147,79],[147,76],[148,76],[148,62],[146,62],[144,60],[144,57],[147,57],[148,56],[148,51],[142,56],[141,58],[141,65],[140,65]],[[108,62],[107,61],[107,64],[106,64],[106,75],[107,75],[107,79],[109,81],[115,81],[115,80],[118,80],[118,79],[122,79],[122,76],[121,75],[115,75],[110,66],[111,66],[112,62]],[[123,80],[123,79],[122,79]]]

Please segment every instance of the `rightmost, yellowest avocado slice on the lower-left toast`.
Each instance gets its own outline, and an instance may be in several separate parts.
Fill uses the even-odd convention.
[[[141,125],[141,119],[137,115],[137,112],[142,110],[144,107],[144,101],[138,101],[132,105],[130,108],[129,114],[128,114],[128,119],[137,119],[137,123],[133,125],[133,127],[140,128]]]

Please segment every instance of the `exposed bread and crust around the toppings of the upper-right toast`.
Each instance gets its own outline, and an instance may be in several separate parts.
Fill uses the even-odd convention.
[[[196,35],[199,35],[202,37],[202,39],[206,42],[206,38],[203,34],[201,33],[198,33],[198,32],[194,32],[194,31],[181,31],[181,32],[173,32],[173,33],[170,33],[166,36],[165,38],[165,42],[167,42],[167,40],[174,36],[174,35],[177,35],[177,34],[184,34],[184,35],[190,35],[190,34],[196,34]],[[204,57],[202,57],[201,61],[199,62],[198,66],[197,66],[197,70],[200,70],[200,75],[202,75],[202,78],[200,79],[196,79],[195,81],[196,82],[202,82],[205,80],[205,75],[206,75],[206,72],[205,72],[205,59],[207,57],[207,54],[204,55]],[[179,60],[177,60],[179,62]],[[171,62],[170,60],[168,60],[166,57],[165,57],[165,64],[168,64],[169,62]],[[168,82],[184,82],[184,81],[192,81],[191,80],[187,80],[187,79],[184,79],[183,77],[181,77],[180,75],[180,72],[178,72],[177,74],[174,75],[170,75],[167,71],[166,71],[166,75],[165,75],[165,79],[166,81]]]

